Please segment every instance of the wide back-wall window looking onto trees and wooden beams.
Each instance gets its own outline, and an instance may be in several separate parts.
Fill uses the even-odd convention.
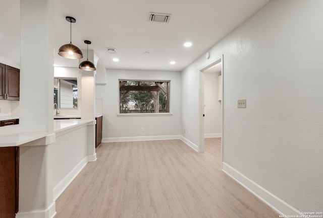
[[[170,81],[119,80],[120,113],[169,113]]]

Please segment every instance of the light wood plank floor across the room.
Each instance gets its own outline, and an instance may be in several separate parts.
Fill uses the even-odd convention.
[[[221,171],[221,139],[102,143],[56,201],[57,218],[276,218]]]

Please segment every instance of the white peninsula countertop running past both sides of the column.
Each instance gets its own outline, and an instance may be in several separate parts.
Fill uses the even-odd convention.
[[[53,132],[57,134],[65,130],[81,127],[81,125],[87,125],[90,122],[93,122],[93,120],[82,120],[82,119],[53,120],[53,127],[54,127]],[[22,144],[45,137],[47,135],[49,135],[48,132],[20,133],[19,124],[3,126],[0,128],[0,147],[21,146]]]

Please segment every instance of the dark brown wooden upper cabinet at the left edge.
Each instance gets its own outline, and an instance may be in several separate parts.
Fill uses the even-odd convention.
[[[19,101],[20,70],[0,63],[0,82],[1,98]]]

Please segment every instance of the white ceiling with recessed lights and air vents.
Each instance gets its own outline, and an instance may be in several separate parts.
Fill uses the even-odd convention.
[[[55,49],[90,40],[106,68],[182,70],[269,0],[55,0]],[[0,57],[20,62],[20,1],[1,1]],[[148,22],[149,12],[172,14],[169,23]],[[193,43],[189,48],[183,46]],[[105,47],[116,48],[109,54]],[[150,52],[149,55],[144,52]],[[86,53],[85,53],[86,55]],[[119,62],[112,59],[118,57]],[[176,61],[171,65],[170,61]],[[78,66],[56,52],[58,66]]]

